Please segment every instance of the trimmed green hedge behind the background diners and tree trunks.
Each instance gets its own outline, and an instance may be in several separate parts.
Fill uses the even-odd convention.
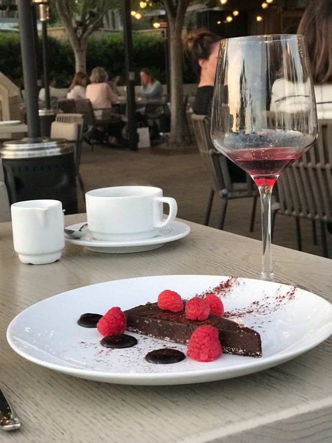
[[[161,83],[166,83],[165,40],[162,36],[133,33],[134,72],[136,84],[140,83],[139,72],[149,67]],[[48,66],[50,75],[57,79],[57,87],[66,88],[75,73],[75,59],[72,47],[66,39],[47,39]],[[24,89],[20,35],[17,32],[0,32],[0,71],[16,85]],[[39,38],[36,63],[38,78],[42,78],[42,41]],[[102,39],[89,40],[87,49],[87,73],[95,66],[103,66],[110,79],[121,76],[125,81],[123,34],[108,33]],[[190,69],[184,69],[184,83],[194,83]]]

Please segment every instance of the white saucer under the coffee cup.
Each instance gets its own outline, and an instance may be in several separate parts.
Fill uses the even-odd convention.
[[[66,226],[67,229],[79,229],[82,223]],[[190,227],[181,221],[172,221],[167,226],[160,228],[159,233],[151,238],[142,240],[127,240],[122,242],[96,240],[93,238],[88,227],[83,230],[84,236],[81,238],[73,238],[70,235],[64,236],[68,243],[73,245],[85,246],[90,251],[101,253],[132,253],[151,251],[152,249],[161,248],[165,243],[173,242],[185,237],[190,232]]]

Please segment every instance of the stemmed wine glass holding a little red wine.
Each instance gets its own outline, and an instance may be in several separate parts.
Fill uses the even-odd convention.
[[[302,35],[221,40],[211,115],[216,149],[258,186],[262,208],[261,279],[274,281],[271,194],[280,173],[315,142],[316,102]]]

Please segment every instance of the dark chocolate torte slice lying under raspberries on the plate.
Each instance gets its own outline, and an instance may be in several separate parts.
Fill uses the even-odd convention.
[[[207,320],[188,320],[184,310],[162,310],[157,303],[147,303],[124,311],[127,330],[169,342],[188,344],[191,334],[200,326],[214,326],[219,332],[222,351],[227,354],[262,356],[258,332],[227,318],[210,314]]]

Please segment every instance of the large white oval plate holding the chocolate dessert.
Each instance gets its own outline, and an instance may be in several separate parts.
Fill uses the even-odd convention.
[[[231,278],[231,288],[216,291],[229,277],[156,276],[117,280],[73,289],[43,300],[16,316],[7,330],[9,345],[26,359],[84,379],[122,384],[185,384],[222,380],[271,368],[315,347],[332,333],[332,305],[323,298],[291,286]],[[210,363],[185,358],[180,363],[155,365],[147,352],[186,346],[134,335],[139,343],[126,349],[99,344],[96,329],[77,324],[81,314],[104,314],[154,302],[166,288],[182,298],[214,291],[225,310],[261,334],[263,357],[223,354]],[[218,293],[219,292],[219,293]],[[248,314],[250,311],[250,314]]]

